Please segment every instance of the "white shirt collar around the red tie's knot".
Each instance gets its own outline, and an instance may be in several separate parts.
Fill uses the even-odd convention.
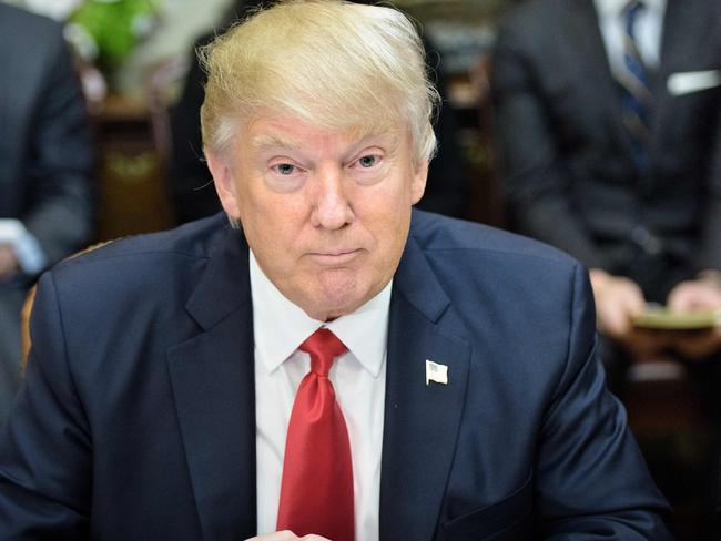
[[[253,251],[250,272],[255,348],[268,374],[293,355],[303,340],[325,326],[347,346],[364,369],[378,376],[386,354],[393,280],[354,313],[325,323],[313,319],[285,298],[265,276]]]

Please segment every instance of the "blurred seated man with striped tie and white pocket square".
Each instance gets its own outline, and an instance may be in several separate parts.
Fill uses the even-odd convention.
[[[590,269],[611,390],[670,354],[718,422],[721,327],[632,318],[721,308],[721,2],[531,0],[500,22],[492,70],[512,225]]]

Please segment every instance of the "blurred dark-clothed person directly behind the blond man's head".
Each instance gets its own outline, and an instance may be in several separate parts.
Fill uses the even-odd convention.
[[[227,11],[220,28],[226,29],[232,23],[242,21],[264,3],[267,1],[236,1]],[[354,3],[374,4],[376,2],[356,1]],[[209,43],[213,35],[211,33],[200,38],[193,49]],[[440,53],[428,35],[423,35],[423,40],[426,47],[428,70],[438,92],[444,98],[444,103],[435,124],[438,153],[430,163],[426,193],[417,206],[424,211],[463,218],[468,213],[469,186],[465,171],[465,157],[457,141],[457,111],[453,104],[445,100],[447,88]],[[171,113],[173,145],[169,190],[180,223],[210,216],[221,210],[212,178],[202,157],[200,108],[203,103],[204,85],[205,74],[193,51],[183,93]]]

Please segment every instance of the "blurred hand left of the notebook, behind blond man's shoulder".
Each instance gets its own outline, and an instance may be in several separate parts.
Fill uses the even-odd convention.
[[[610,338],[627,344],[633,331],[631,318],[646,307],[641,288],[631,279],[606,270],[590,272],[598,329]]]

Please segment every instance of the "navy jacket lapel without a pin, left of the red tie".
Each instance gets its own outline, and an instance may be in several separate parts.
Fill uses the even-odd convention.
[[[252,537],[255,381],[242,235],[213,253],[186,310],[203,331],[169,350],[167,368],[203,538]]]

